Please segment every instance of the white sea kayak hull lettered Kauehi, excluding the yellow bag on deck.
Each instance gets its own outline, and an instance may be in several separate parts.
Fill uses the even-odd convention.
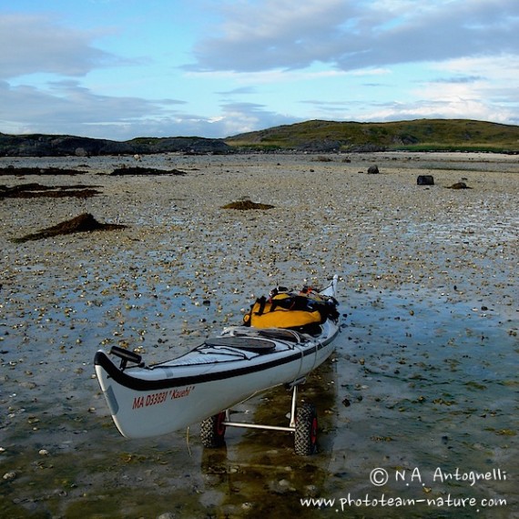
[[[97,351],[97,380],[119,432],[127,438],[174,432],[259,392],[296,385],[333,351],[339,332],[337,280],[334,276],[319,292],[304,292],[312,309],[315,301],[326,310],[318,324],[230,327],[178,358],[150,366],[132,351],[112,348],[120,365]]]

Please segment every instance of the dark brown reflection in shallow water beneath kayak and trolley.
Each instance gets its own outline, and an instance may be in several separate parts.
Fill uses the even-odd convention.
[[[332,359],[310,373],[299,388],[298,402],[312,402],[318,411],[317,454],[297,456],[290,432],[237,428],[228,428],[226,447],[204,449],[201,470],[208,486],[221,495],[222,516],[281,517],[299,510],[300,498],[321,494],[337,433],[335,382]],[[285,426],[290,402],[291,392],[276,388],[241,404],[232,420]],[[301,516],[307,514],[310,510],[301,509]]]

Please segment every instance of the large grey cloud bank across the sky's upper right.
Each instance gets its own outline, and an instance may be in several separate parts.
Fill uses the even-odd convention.
[[[195,48],[198,70],[343,70],[517,52],[519,2],[241,2]]]

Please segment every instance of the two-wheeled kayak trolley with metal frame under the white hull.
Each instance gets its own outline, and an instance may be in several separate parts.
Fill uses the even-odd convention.
[[[251,422],[234,422],[230,420],[230,410],[209,416],[200,423],[200,439],[204,447],[217,448],[225,443],[227,427],[245,429],[263,429],[268,431],[285,431],[294,434],[294,452],[300,456],[309,456],[317,452],[317,412],[311,403],[304,402],[297,406],[298,386],[305,379],[289,384],[292,392],[290,406],[290,422],[286,427],[280,425],[264,425]]]

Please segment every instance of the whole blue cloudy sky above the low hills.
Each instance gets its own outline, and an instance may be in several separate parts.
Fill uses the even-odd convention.
[[[519,0],[0,0],[0,132],[519,124]]]

